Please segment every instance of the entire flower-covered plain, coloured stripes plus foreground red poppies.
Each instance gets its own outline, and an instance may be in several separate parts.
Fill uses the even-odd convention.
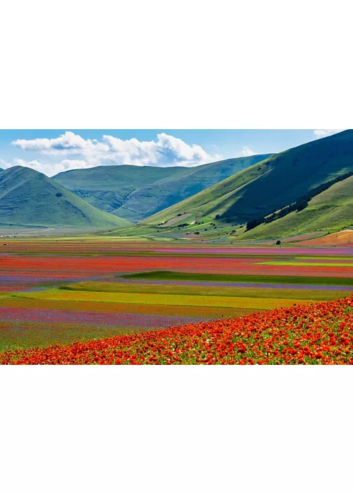
[[[11,239],[1,363],[351,363],[352,254]]]

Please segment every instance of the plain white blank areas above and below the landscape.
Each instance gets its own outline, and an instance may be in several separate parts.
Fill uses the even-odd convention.
[[[1,4],[1,128],[349,128],[347,1]],[[352,370],[1,368],[1,492],[349,492]]]

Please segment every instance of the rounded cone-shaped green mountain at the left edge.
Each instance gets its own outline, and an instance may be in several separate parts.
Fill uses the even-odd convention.
[[[39,171],[12,167],[0,173],[0,224],[116,228],[129,222],[97,210]]]

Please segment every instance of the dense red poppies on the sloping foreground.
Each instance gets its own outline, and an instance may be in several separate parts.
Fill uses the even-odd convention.
[[[352,364],[353,297],[44,349],[1,364]]]

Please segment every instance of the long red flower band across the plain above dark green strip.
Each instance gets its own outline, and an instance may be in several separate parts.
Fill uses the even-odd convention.
[[[8,255],[1,259],[2,275],[40,276],[45,278],[68,277],[80,278],[107,276],[129,272],[150,270],[168,270],[179,272],[206,272],[236,275],[283,275],[283,276],[317,276],[317,277],[353,277],[353,265],[261,265],[267,258],[157,258],[157,257],[20,257]]]

